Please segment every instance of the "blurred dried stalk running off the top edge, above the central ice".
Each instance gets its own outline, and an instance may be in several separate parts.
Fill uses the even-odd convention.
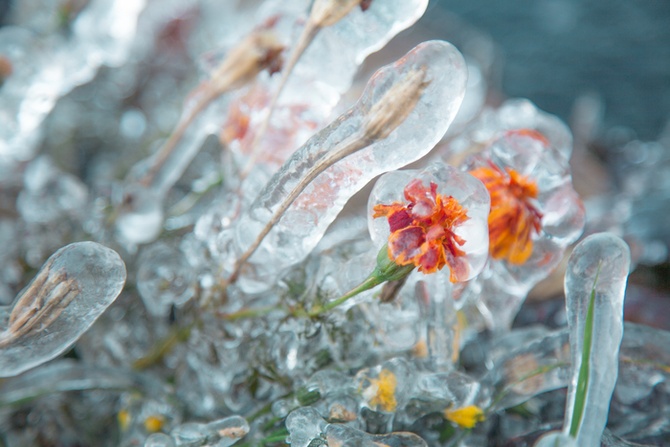
[[[316,0],[314,2],[307,23],[305,23],[305,27],[298,38],[298,42],[295,44],[289,60],[284,65],[279,85],[272,95],[272,98],[270,98],[270,103],[263,116],[263,121],[259,124],[256,135],[251,142],[252,152],[246,166],[240,172],[240,179],[244,179],[249,175],[249,172],[251,172],[251,169],[256,163],[256,159],[260,155],[259,143],[267,133],[270,119],[272,119],[272,113],[277,106],[277,101],[279,101],[279,97],[286,86],[286,82],[293,72],[295,65],[298,63],[298,60],[300,60],[300,57],[302,57],[303,53],[311,45],[322,28],[335,25],[349,14],[352,9],[360,4],[361,0]]]

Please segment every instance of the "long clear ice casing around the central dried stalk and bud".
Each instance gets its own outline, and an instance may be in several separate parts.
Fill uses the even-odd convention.
[[[351,195],[376,175],[420,158],[441,138],[463,98],[465,70],[460,53],[440,41],[420,44],[395,64],[380,69],[357,105],[305,143],[263,188],[249,213],[237,225],[240,251],[247,250],[273,215],[277,218],[281,213],[281,220],[250,262],[276,272],[304,259]],[[365,133],[374,131],[372,126],[378,125],[380,120],[400,118],[371,115],[382,105],[382,99],[390,100],[384,94],[392,87],[399,88],[403,82],[410,82],[412,76],[421,72],[425,72],[424,82],[429,84],[413,109],[403,112],[409,112],[406,119],[394,122],[397,127],[389,129],[394,129],[390,135],[366,140]],[[401,106],[389,104],[389,107]],[[428,131],[422,128],[417,132],[419,123],[429,117],[433,125]],[[320,166],[319,163],[352,144],[360,145],[360,150],[325,172],[314,169],[315,163]],[[301,182],[304,184],[307,176],[317,177],[305,187]],[[298,196],[283,212],[286,197],[291,194]]]

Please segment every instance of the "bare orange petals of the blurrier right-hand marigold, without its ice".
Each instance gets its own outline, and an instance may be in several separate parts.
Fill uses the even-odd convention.
[[[538,188],[532,179],[493,163],[470,171],[491,196],[489,252],[493,259],[525,263],[533,253],[533,235],[542,229],[542,213],[533,205]]]

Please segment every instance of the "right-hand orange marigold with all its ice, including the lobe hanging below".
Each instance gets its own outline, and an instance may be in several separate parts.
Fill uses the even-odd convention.
[[[491,329],[507,329],[530,289],[581,234],[584,206],[572,187],[567,160],[534,131],[506,132],[462,168],[493,192],[491,256],[461,296],[475,300]],[[520,177],[513,180],[513,173]]]

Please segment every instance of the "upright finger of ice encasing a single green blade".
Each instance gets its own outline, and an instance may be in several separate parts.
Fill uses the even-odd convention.
[[[607,422],[617,380],[629,268],[628,245],[611,233],[588,236],[575,247],[568,261],[565,294],[573,376],[564,432],[576,434],[578,445],[596,445]],[[582,371],[586,377],[581,377]],[[578,382],[583,380],[587,380],[588,388],[579,390]],[[577,396],[584,393],[583,408],[575,408]]]

